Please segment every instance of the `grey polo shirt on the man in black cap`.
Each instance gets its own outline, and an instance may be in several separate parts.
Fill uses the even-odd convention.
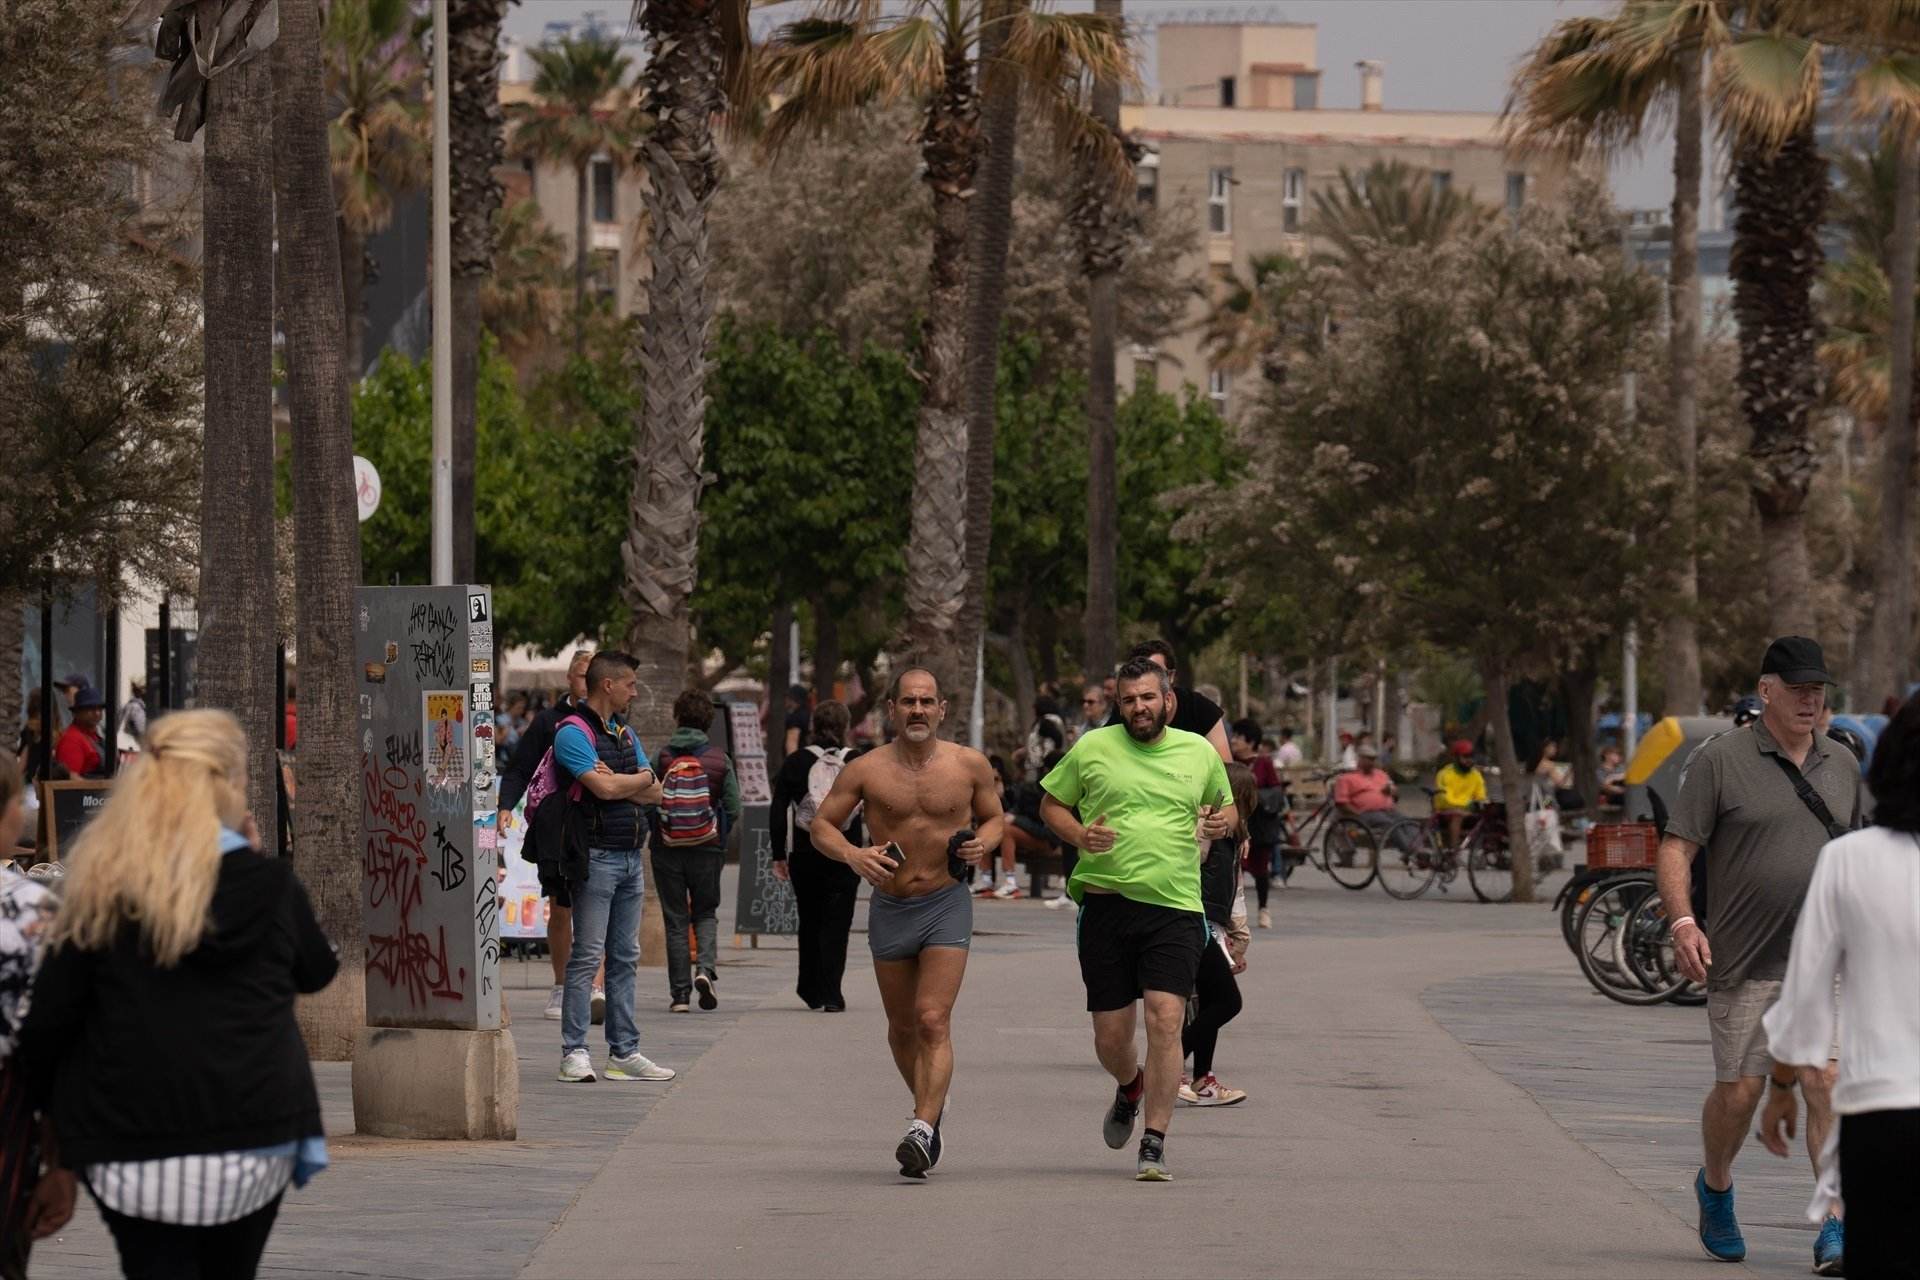
[[[1680,773],[1667,835],[1707,850],[1707,942],[1715,990],[1749,979],[1784,979],[1793,921],[1799,919],[1826,827],[1801,802],[1793,779],[1770,758],[1780,743],[1759,720],[1707,739]],[[1860,764],[1853,752],[1814,733],[1801,773],[1834,821],[1860,825]]]

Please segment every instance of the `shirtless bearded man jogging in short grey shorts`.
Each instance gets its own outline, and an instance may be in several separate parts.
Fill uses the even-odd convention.
[[[954,1075],[950,1019],[973,940],[973,898],[948,864],[977,865],[1000,846],[1000,793],[987,756],[935,737],[947,702],[931,672],[900,672],[887,706],[895,741],[841,770],[810,835],[816,850],[874,887],[866,938],[887,1046],[914,1090],[914,1121],[893,1155],[902,1176],[924,1178],[941,1159],[941,1111]],[[860,804],[876,841],[868,848],[841,831]],[[956,841],[956,833],[972,835]]]

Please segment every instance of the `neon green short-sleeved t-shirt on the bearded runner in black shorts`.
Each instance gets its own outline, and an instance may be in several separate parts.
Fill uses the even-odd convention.
[[[1227,764],[1198,733],[1167,729],[1152,747],[1123,725],[1081,735],[1066,760],[1041,779],[1062,804],[1079,808],[1089,827],[1106,814],[1116,833],[1104,854],[1081,850],[1068,892],[1089,887],[1135,902],[1200,912],[1200,848],[1194,823],[1202,804],[1231,804]]]

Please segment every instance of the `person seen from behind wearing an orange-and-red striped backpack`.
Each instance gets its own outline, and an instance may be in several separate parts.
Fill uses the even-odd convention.
[[[720,865],[726,833],[739,821],[739,775],[724,750],[707,741],[714,700],[705,689],[674,699],[674,735],[659,754],[660,810],[653,829],[653,885],[666,923],[666,986],[670,1009],[720,1006],[714,958],[720,950],[714,912],[720,910]],[[699,948],[701,971],[687,954],[687,925]]]

